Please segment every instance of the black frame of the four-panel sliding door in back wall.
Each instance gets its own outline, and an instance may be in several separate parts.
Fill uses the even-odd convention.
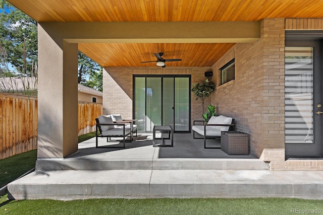
[[[133,100],[132,100],[132,114],[133,116],[136,115],[136,105],[135,105],[135,101],[136,101],[136,83],[135,83],[135,78],[136,77],[141,77],[141,78],[149,78],[149,77],[152,77],[152,78],[161,78],[161,89],[163,89],[163,78],[174,78],[174,89],[175,89],[175,78],[188,78],[189,79],[189,105],[188,105],[188,113],[189,113],[189,119],[188,119],[188,122],[189,122],[189,125],[188,125],[188,130],[187,131],[178,131],[178,130],[175,130],[175,109],[174,109],[174,132],[175,133],[191,133],[191,129],[192,129],[192,122],[191,122],[191,118],[192,118],[192,110],[191,110],[191,106],[192,106],[192,99],[191,99],[191,85],[192,85],[192,75],[189,75],[189,74],[183,74],[183,75],[152,75],[152,74],[148,74],[148,75],[132,75],[132,85],[133,85],[133,90],[132,90],[132,95],[133,95]],[[145,81],[146,82],[146,81]],[[145,84],[146,85],[146,84]],[[145,95],[146,96],[146,95]],[[174,108],[175,108],[175,90],[174,90]],[[164,99],[164,95],[163,95],[163,90],[161,90],[161,106],[163,106],[163,99]],[[146,101],[146,98],[145,98],[145,101]],[[145,115],[146,115],[146,103],[145,103]],[[163,108],[162,108],[163,110]],[[164,118],[164,115],[163,115],[163,111],[161,111],[161,123],[163,124],[163,118]],[[145,131],[146,132],[146,131]],[[152,132],[152,131],[151,131]]]

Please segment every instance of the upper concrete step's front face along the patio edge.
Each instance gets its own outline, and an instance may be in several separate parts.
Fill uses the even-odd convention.
[[[268,170],[259,159],[48,159],[37,160],[36,170]]]

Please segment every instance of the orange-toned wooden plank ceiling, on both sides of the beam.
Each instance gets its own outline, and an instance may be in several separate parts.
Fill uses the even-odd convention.
[[[208,22],[323,18],[317,0],[7,0],[37,22]],[[182,58],[167,66],[211,66],[232,43],[80,43],[102,66],[155,66],[140,61]]]

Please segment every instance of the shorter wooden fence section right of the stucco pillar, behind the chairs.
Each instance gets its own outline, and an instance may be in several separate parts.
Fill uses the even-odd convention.
[[[95,118],[102,115],[102,104],[78,103],[78,135],[95,131]]]

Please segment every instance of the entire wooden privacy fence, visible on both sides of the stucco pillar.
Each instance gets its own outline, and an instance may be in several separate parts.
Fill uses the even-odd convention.
[[[37,97],[0,93],[0,160],[37,149]],[[78,104],[78,135],[95,131],[102,104]]]

